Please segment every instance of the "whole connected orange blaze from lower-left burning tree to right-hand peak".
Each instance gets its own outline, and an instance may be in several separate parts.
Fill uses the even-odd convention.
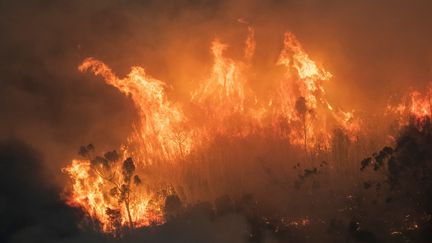
[[[190,114],[186,105],[170,101],[166,84],[143,68],[132,67],[126,77],[119,78],[102,61],[94,58],[83,61],[78,68],[81,72],[89,70],[101,76],[107,84],[130,95],[135,104],[139,120],[134,123],[134,132],[128,136],[121,157],[126,159],[125,163],[128,157],[136,159],[136,176],[154,163],[176,166],[216,136],[279,136],[304,148],[306,153],[328,150],[335,127],[354,137],[359,129],[354,114],[334,108],[326,99],[323,83],[332,74],[310,59],[292,33],[285,34],[284,47],[275,62],[285,69],[279,89],[273,92],[271,100],[254,94],[247,75],[255,51],[254,34],[249,27],[243,60],[226,57],[229,46],[219,39],[211,43],[214,58],[211,73],[190,98],[190,104],[196,108],[194,112],[201,117],[199,121],[191,119],[196,114]],[[162,223],[164,201],[158,196],[159,189],[150,188],[145,181],[143,185],[131,183],[119,162],[95,165],[92,161],[98,158],[109,161],[89,157],[73,160],[64,169],[72,180],[67,202],[82,207],[106,232],[115,231],[112,222],[116,215],[117,223],[123,226]],[[122,189],[122,183],[127,190]],[[134,192],[130,202],[119,202],[109,195],[113,187],[128,195]]]

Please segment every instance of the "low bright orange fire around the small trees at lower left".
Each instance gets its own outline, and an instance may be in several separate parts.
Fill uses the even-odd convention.
[[[115,165],[110,170],[107,172],[102,168],[94,168],[88,160],[73,160],[63,171],[73,178],[71,194],[66,202],[83,208],[91,218],[99,221],[105,232],[119,230],[115,224],[129,225],[133,222],[131,227],[142,227],[163,222],[161,209],[153,206],[160,205],[162,199],[143,186],[134,185],[128,189],[133,194],[126,207],[119,197],[110,195],[114,193],[113,189],[121,188],[121,181],[124,180],[123,177],[115,178],[121,177],[120,166]],[[120,217],[110,218],[114,212],[118,212]],[[130,219],[128,214],[132,215]]]

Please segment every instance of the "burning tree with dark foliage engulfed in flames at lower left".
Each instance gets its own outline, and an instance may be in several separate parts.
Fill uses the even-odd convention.
[[[122,158],[115,150],[98,156],[92,144],[81,146],[79,154],[85,160],[74,160],[65,168],[75,178],[75,194],[69,196],[69,204],[84,207],[90,217],[100,221],[104,231],[115,236],[121,234],[124,226],[132,229],[161,221],[158,209],[148,208],[158,203],[143,193],[142,180],[136,174],[132,158]],[[147,221],[138,214],[144,215]]]

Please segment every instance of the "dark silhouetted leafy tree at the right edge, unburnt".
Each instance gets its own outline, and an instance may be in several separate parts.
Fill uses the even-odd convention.
[[[408,196],[432,214],[432,124],[429,118],[412,121],[398,136],[394,148],[384,147],[361,162],[361,170],[382,171],[393,192]]]

